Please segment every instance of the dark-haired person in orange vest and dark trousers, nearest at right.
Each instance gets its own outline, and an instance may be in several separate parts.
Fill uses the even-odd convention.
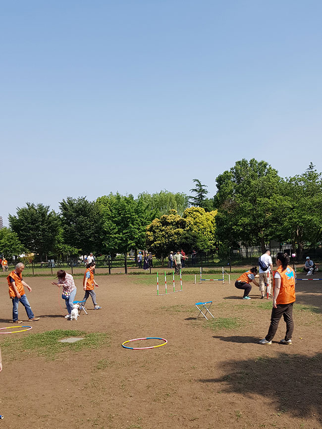
[[[288,255],[278,252],[276,255],[277,269],[273,272],[273,308],[271,311],[268,334],[259,341],[260,344],[271,344],[271,340],[277,331],[278,323],[283,316],[286,322],[285,338],[280,344],[292,344],[293,304],[295,302],[295,272],[289,267]]]

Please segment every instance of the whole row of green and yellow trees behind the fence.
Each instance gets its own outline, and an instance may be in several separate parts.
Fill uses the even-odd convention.
[[[306,171],[281,178],[265,161],[237,161],[216,178],[217,191],[194,179],[193,195],[119,193],[88,201],[68,197],[59,213],[27,203],[9,215],[0,230],[0,252],[26,250],[63,258],[77,254],[152,251],[161,260],[170,250],[215,251],[218,247],[290,241],[298,253],[322,239],[322,177],[311,163]],[[193,207],[189,207],[193,206]]]

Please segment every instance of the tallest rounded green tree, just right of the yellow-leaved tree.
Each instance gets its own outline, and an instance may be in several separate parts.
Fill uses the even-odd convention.
[[[265,243],[275,224],[272,205],[279,195],[282,179],[266,161],[237,161],[216,178],[214,201],[218,208],[217,236],[227,245]]]

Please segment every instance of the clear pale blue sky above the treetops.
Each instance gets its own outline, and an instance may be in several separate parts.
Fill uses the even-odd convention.
[[[2,0],[0,215],[322,171],[320,0]]]

